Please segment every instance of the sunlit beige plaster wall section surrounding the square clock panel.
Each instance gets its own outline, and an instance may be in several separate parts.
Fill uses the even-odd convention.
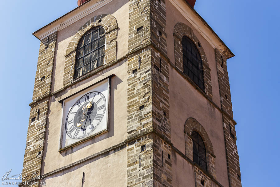
[[[82,144],[74,146],[68,151],[59,153],[60,132],[62,128],[62,107],[58,101],[71,96],[80,90],[93,85],[112,74],[110,99],[109,132],[96,136]],[[123,60],[97,75],[85,79],[66,89],[61,95],[50,99],[48,114],[46,144],[43,156],[42,173],[48,173],[60,167],[79,161],[85,157],[110,148],[123,142],[127,138],[127,64]]]

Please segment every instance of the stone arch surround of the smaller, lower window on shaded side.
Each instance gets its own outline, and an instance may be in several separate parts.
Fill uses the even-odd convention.
[[[188,118],[184,126],[186,156],[193,161],[193,140],[191,134],[198,132],[206,149],[207,172],[216,178],[215,155],[210,138],[203,126],[194,118]]]

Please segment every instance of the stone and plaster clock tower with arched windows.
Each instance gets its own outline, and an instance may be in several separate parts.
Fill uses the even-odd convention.
[[[227,59],[195,0],[79,0],[33,35],[19,186],[241,187]]]

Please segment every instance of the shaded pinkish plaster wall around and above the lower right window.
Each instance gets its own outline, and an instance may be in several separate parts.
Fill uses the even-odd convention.
[[[221,113],[172,67],[169,69],[169,90],[172,143],[181,152],[185,153],[185,122],[189,117],[198,120],[205,128],[214,148],[217,181],[223,186],[228,186]],[[172,168],[177,167],[180,166],[172,165]],[[179,173],[173,173],[173,176],[176,176],[176,174]]]

